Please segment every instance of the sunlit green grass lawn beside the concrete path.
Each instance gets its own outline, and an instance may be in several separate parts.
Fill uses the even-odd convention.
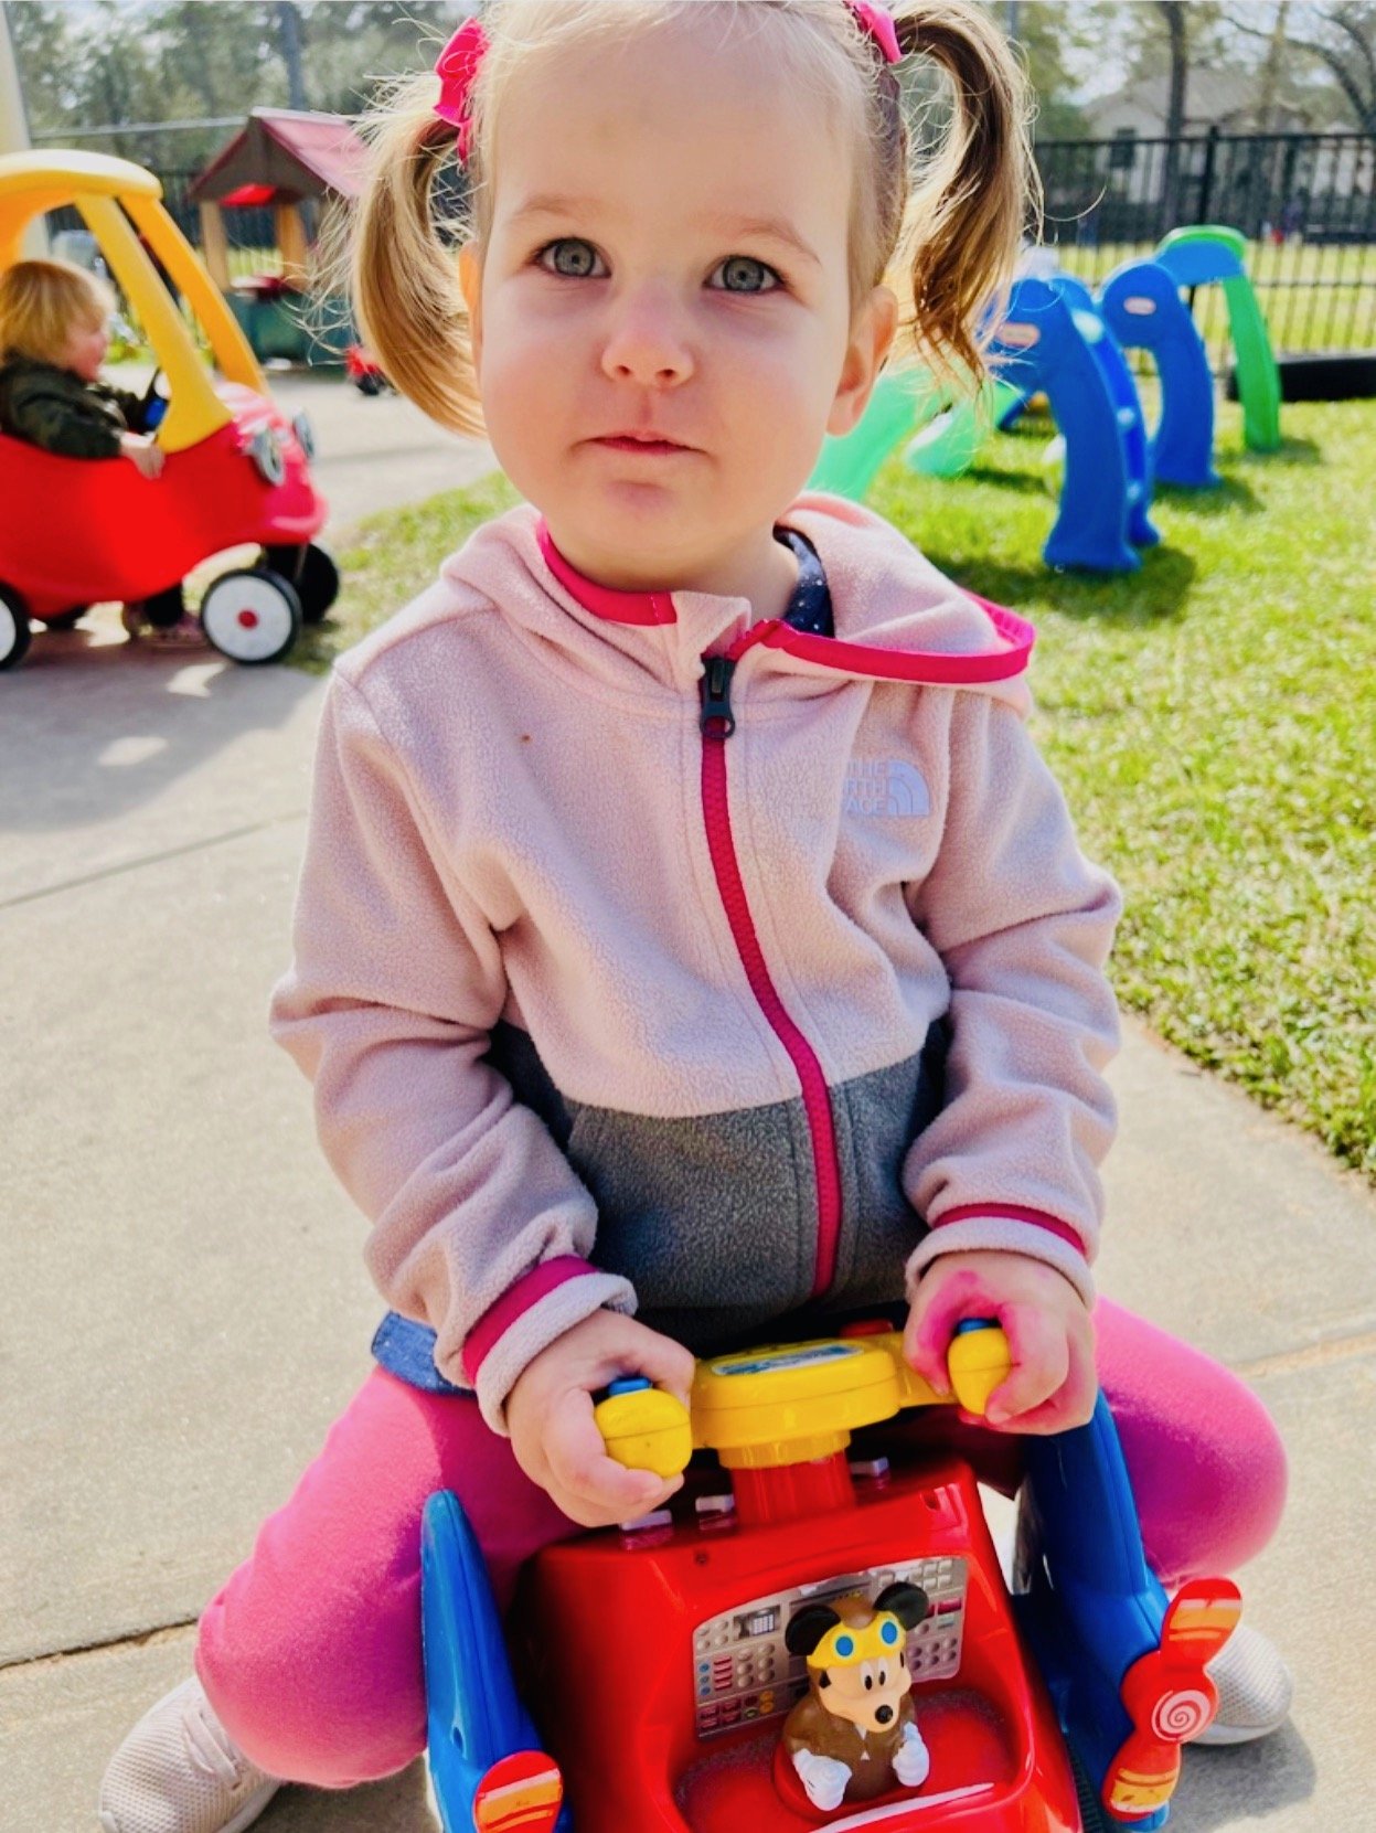
[[[1127,898],[1123,1004],[1376,1180],[1376,405],[1288,405],[1272,455],[1235,405],[1218,422],[1222,488],[1160,491],[1130,576],[1043,565],[1044,422],[955,484],[892,458],[868,500],[1037,623],[1037,737]],[[495,477],[365,524],[302,665],[517,500]]]

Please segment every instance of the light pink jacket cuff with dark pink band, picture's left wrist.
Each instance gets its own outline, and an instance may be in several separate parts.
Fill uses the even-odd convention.
[[[506,1397],[526,1366],[557,1336],[601,1309],[634,1312],[636,1289],[619,1274],[601,1272],[575,1254],[541,1261],[489,1305],[458,1355],[440,1364],[440,1373],[473,1388],[484,1421],[506,1437]]]

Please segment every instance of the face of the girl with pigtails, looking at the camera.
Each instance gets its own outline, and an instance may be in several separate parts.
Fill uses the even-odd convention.
[[[898,313],[876,288],[852,324],[850,163],[817,104],[704,7],[522,79],[495,169],[460,271],[508,477],[603,585],[777,596],[773,522]],[[634,429],[674,445],[606,444]]]

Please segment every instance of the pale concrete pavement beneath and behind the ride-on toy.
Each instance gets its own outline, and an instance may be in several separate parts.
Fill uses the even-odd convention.
[[[464,442],[436,453],[410,409],[319,405],[339,416],[321,475],[344,500],[346,473],[374,508],[489,466]],[[368,1366],[363,1224],[264,1028],[322,691],[99,632],[37,640],[0,678],[0,1833],[95,1826],[108,1752],[185,1675],[198,1609]],[[1284,1527],[1242,1578],[1297,1672],[1294,1723],[1193,1752],[1174,1824],[1360,1833],[1376,1201],[1138,1030],[1114,1080],[1101,1285],[1253,1380],[1294,1463]],[[418,1769],[288,1789],[260,1822],[423,1824]]]

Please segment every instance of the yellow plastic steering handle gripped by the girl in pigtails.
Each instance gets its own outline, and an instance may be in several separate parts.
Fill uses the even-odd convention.
[[[947,1351],[956,1400],[982,1413],[1011,1367],[997,1323],[960,1325]],[[938,1395],[903,1358],[900,1331],[748,1349],[698,1362],[693,1406],[639,1380],[616,1382],[594,1417],[606,1454],[630,1470],[678,1476],[694,1448],[729,1470],[828,1457],[850,1433]]]

